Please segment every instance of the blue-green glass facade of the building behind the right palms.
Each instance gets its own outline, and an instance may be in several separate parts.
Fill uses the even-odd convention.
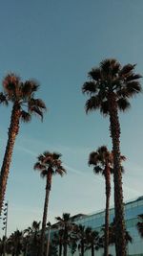
[[[137,198],[133,201],[130,201],[125,204],[125,221],[126,228],[129,231],[130,235],[133,238],[133,243],[128,244],[128,255],[132,256],[143,256],[143,239],[140,238],[136,223],[139,221],[137,216],[143,214],[143,197]],[[110,221],[113,221],[114,211],[113,208],[110,209]],[[74,222],[76,224],[82,224],[85,227],[90,226],[93,230],[99,231],[101,226],[105,221],[105,211],[101,211],[92,215],[80,217]],[[112,256],[115,256],[114,246],[110,246],[110,253]],[[69,256],[71,255],[69,251]],[[74,256],[79,255],[78,252],[75,252]],[[100,249],[95,252],[96,256],[103,255],[103,249]],[[91,256],[91,251],[86,251],[85,256]]]

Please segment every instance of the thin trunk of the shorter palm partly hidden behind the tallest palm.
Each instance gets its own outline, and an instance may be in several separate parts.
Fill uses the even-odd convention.
[[[105,168],[105,183],[106,183],[106,212],[105,212],[105,244],[104,244],[104,256],[109,255],[109,222],[110,222],[110,197],[111,197],[111,171],[109,163]]]

